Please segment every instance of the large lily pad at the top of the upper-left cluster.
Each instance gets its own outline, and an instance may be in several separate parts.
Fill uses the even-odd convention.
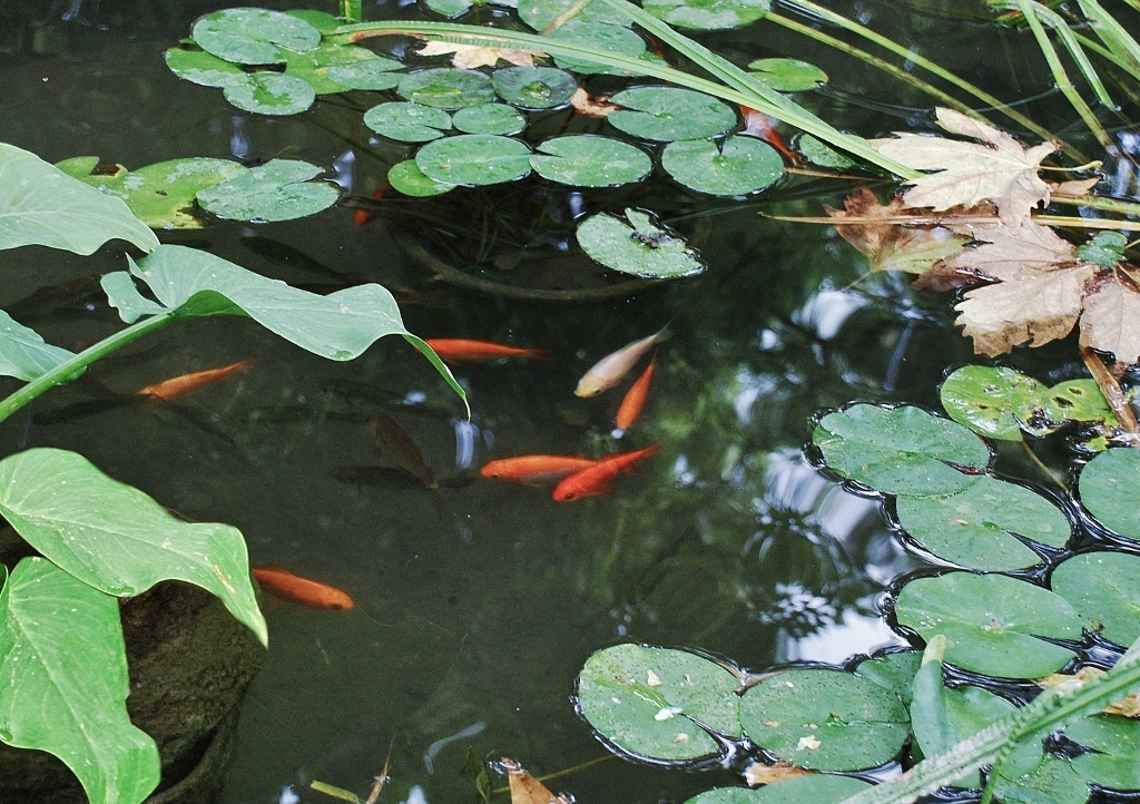
[[[280,11],[263,8],[227,8],[194,23],[194,42],[209,54],[235,64],[280,64],[278,48],[303,52],[320,44],[320,31]]]

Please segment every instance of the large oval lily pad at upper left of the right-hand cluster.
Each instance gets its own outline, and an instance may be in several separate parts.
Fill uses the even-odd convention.
[[[812,440],[833,472],[899,496],[956,494],[990,463],[990,449],[972,432],[911,406],[852,405],[821,419]]]

